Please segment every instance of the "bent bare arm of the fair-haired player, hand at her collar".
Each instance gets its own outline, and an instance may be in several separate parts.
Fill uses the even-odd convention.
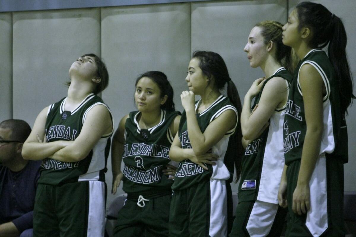
[[[281,77],[274,77],[267,81],[263,88],[258,107],[251,113],[251,101],[256,95],[256,90],[261,87],[263,82],[258,83],[257,79],[248,90],[244,99],[244,106],[241,112],[241,130],[242,135],[247,140],[254,140],[260,134],[262,128],[266,125],[273,111],[281,102],[287,98],[287,84]]]

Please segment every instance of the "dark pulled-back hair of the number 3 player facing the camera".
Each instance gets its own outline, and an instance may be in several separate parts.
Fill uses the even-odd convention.
[[[163,105],[161,105],[161,109],[166,111],[175,111],[173,102],[173,88],[171,86],[171,83],[169,83],[166,74],[159,71],[145,72],[136,79],[135,86],[137,85],[138,81],[143,77],[150,78],[158,85],[159,90],[161,90],[161,98],[167,95],[167,100]]]

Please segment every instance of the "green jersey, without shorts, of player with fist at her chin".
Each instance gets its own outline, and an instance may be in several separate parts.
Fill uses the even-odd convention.
[[[236,117],[238,117],[236,108],[232,105],[229,98],[224,95],[220,95],[219,98],[216,99],[207,109],[199,114],[197,111],[200,103],[201,100],[195,104],[195,111],[197,113],[198,125],[203,133],[209,126],[210,122],[226,110],[235,111]],[[216,161],[216,165],[213,166],[206,164],[208,170],[205,170],[199,165],[191,162],[189,159],[183,160],[179,163],[177,173],[174,177],[174,184],[172,185],[173,190],[186,189],[194,184],[207,181],[209,179],[224,179],[231,182],[234,174],[234,159],[237,153],[234,149],[236,146],[231,144],[229,141],[232,141],[230,136],[234,134],[236,125],[237,123],[233,129],[227,131],[225,136],[208,151],[219,156]],[[180,118],[178,135],[183,149],[192,148],[189,141],[187,115],[185,111]],[[227,149],[228,147],[229,149]]]

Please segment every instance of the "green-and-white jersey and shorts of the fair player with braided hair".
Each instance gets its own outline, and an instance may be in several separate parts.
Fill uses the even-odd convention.
[[[267,81],[285,79],[287,88],[292,75],[283,67],[267,78],[251,110],[261,99]],[[278,205],[278,189],[284,168],[283,122],[286,104],[276,108],[269,127],[246,147],[241,163],[239,204],[230,236],[281,236],[287,212]]]

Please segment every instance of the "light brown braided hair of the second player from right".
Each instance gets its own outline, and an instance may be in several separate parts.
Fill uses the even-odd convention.
[[[292,48],[282,42],[283,25],[278,21],[261,21],[255,26],[261,28],[261,35],[265,44],[268,44],[269,41],[274,43],[276,47],[276,59],[283,67],[292,73]]]

